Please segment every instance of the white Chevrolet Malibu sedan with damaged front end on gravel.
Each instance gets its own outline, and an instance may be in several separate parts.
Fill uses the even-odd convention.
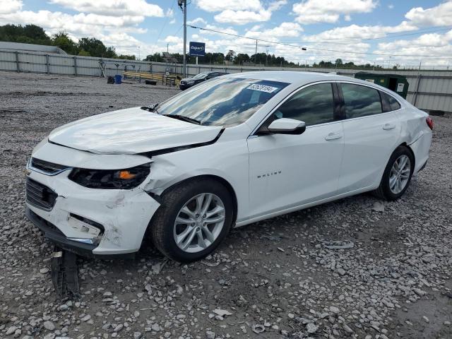
[[[26,214],[61,248],[176,261],[231,227],[374,191],[395,200],[429,156],[433,121],[379,85],[238,73],[165,102],[66,124],[32,152]]]

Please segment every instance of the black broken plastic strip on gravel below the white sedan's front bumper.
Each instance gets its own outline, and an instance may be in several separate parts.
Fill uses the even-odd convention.
[[[52,283],[59,297],[79,299],[77,255],[55,246],[51,266]]]

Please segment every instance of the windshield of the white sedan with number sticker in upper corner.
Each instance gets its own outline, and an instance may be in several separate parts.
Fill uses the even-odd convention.
[[[242,124],[288,83],[215,78],[162,103],[158,113],[195,119],[203,125]]]

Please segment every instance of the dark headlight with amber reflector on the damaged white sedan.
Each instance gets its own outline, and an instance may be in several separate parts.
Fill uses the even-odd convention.
[[[69,179],[90,189],[133,189],[150,173],[150,164],[126,169],[74,168]]]

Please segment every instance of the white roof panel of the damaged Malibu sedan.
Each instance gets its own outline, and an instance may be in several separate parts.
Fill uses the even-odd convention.
[[[233,73],[227,75],[230,78],[252,78],[267,81],[280,81],[282,83],[292,83],[295,85],[304,85],[314,81],[353,81],[356,83],[369,82],[351,78],[350,76],[338,76],[335,73],[320,73],[306,71],[251,71],[243,73]],[[375,86],[376,87],[376,86]]]

